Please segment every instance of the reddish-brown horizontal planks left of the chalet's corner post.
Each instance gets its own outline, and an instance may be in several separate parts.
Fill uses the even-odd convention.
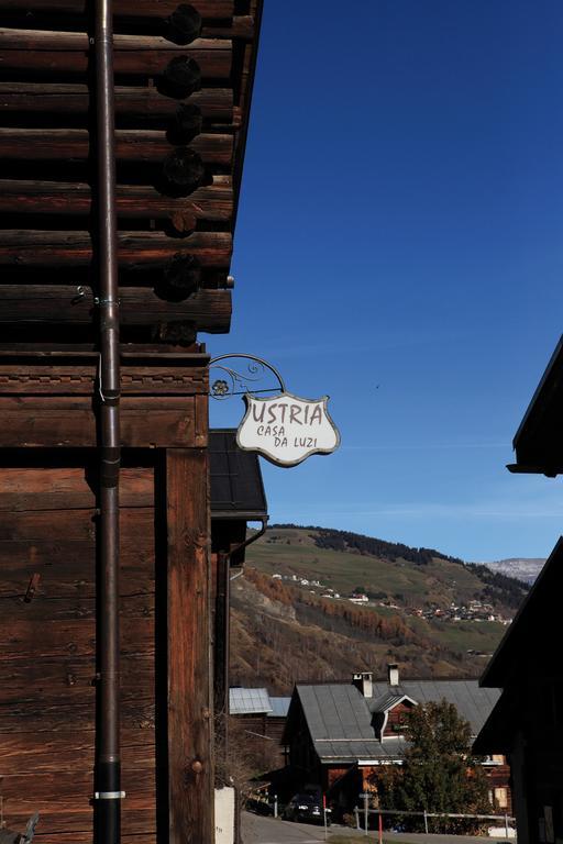
[[[48,501],[46,492],[49,491]],[[154,470],[120,513],[124,840],[155,841]],[[91,842],[97,512],[85,469],[0,470],[0,793],[37,840]],[[29,585],[34,576],[32,596]]]

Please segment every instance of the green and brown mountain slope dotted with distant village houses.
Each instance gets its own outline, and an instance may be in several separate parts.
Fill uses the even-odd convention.
[[[274,525],[232,584],[231,681],[288,692],[297,679],[383,675],[389,662],[418,677],[478,676],[526,591],[437,551]]]

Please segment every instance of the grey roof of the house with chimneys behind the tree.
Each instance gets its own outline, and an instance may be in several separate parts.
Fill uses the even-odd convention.
[[[376,738],[375,712],[398,703],[405,696],[417,703],[454,703],[474,735],[493,710],[499,692],[482,689],[477,680],[406,680],[400,686],[374,682],[373,697],[364,698],[352,684],[296,686],[305,719],[319,758],[323,763],[357,759],[400,759],[407,743],[402,736]]]

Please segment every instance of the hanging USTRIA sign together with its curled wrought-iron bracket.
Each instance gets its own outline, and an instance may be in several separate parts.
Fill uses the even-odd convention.
[[[244,371],[239,366],[228,366],[228,358],[244,358]],[[211,384],[212,398],[242,396],[246,404],[236,431],[236,444],[243,451],[257,452],[276,466],[289,467],[312,454],[331,454],[339,447],[340,433],[327,408],[328,396],[294,396],[286,390],[277,369],[253,355],[222,355],[211,360],[210,366],[221,375]],[[263,386],[268,377],[273,386]],[[266,392],[275,395],[257,395]]]

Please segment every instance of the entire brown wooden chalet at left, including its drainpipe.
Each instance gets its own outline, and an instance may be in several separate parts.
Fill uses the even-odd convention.
[[[214,841],[201,335],[260,7],[0,0],[0,806],[45,844]]]

